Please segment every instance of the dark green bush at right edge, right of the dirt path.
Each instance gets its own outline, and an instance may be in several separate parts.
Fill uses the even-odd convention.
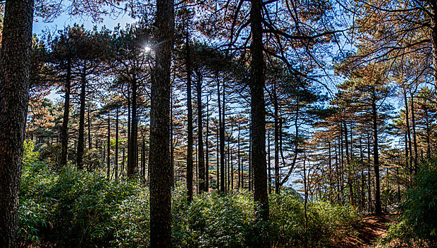
[[[414,179],[400,205],[399,222],[390,227],[381,244],[391,247],[437,245],[437,162],[429,162]]]

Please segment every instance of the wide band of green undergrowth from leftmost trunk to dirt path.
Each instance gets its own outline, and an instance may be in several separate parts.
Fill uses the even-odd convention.
[[[351,230],[352,208],[329,203],[307,206],[293,191],[270,197],[271,221],[254,222],[248,191],[195,195],[172,193],[174,247],[256,246],[265,235],[275,247],[321,247]],[[19,237],[23,244],[60,247],[148,247],[149,192],[140,179],[114,182],[73,167],[55,170],[42,162],[23,167]],[[322,245],[323,244],[323,245]]]

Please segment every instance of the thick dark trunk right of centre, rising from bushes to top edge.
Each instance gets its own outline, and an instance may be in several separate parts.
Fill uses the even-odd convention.
[[[265,79],[261,7],[261,0],[251,1],[251,159],[254,169],[254,201],[257,206],[259,205],[259,208],[256,207],[256,221],[268,220],[266,109],[264,103]],[[265,243],[266,240],[259,240],[259,242]]]

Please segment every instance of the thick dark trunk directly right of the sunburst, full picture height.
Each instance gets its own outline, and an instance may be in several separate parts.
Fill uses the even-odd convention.
[[[156,65],[150,113],[150,245],[171,247],[170,64],[174,1],[157,0]]]

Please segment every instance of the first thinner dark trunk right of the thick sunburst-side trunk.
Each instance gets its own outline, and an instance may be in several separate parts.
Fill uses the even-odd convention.
[[[191,50],[190,39],[186,37],[186,69],[187,69],[187,191],[188,201],[193,201],[193,103],[191,99]]]

